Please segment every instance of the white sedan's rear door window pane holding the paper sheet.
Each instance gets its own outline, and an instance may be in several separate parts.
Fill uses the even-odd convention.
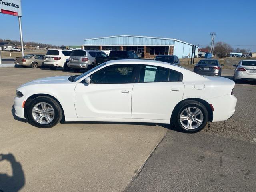
[[[142,65],[140,68],[139,82],[166,82],[169,77],[169,69]]]

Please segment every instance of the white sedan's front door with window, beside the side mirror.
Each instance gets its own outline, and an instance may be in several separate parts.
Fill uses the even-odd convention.
[[[135,66],[111,65],[79,83],[74,91],[78,118],[132,118],[131,100]]]

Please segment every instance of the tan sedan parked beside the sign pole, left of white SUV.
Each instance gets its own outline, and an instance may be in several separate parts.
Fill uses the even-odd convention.
[[[44,60],[44,55],[28,54],[24,57],[16,57],[15,64],[22,67],[30,67],[35,69],[38,66],[42,66]]]

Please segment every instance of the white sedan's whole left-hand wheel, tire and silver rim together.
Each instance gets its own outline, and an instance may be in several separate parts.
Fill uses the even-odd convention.
[[[58,102],[48,96],[32,100],[27,110],[28,122],[40,128],[55,126],[62,119],[62,109]]]

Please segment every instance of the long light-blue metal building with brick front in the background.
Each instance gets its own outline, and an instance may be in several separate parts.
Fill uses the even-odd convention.
[[[82,49],[137,51],[142,58],[154,58],[159,54],[186,58],[191,57],[192,44],[177,39],[120,35],[85,39]],[[195,55],[197,54],[198,47]]]

